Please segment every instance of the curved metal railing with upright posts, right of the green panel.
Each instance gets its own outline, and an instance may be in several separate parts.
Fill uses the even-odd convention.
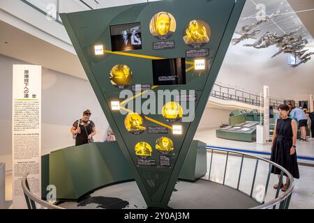
[[[290,202],[290,198],[291,198],[291,195],[292,195],[292,192],[294,190],[294,178],[293,176],[290,174],[289,171],[287,171],[287,169],[281,167],[280,165],[276,164],[275,162],[272,162],[270,160],[266,160],[262,157],[257,157],[255,155],[249,155],[249,154],[246,154],[246,153],[240,153],[240,152],[237,152],[237,151],[228,151],[228,150],[224,150],[224,149],[216,149],[216,148],[207,148],[207,150],[211,150],[212,153],[211,153],[211,163],[210,163],[210,167],[209,167],[209,181],[210,180],[210,176],[211,176],[211,164],[212,164],[212,160],[213,160],[213,153],[214,151],[222,151],[222,152],[225,152],[227,153],[227,157],[230,155],[230,153],[234,153],[234,154],[238,154],[238,155],[241,155],[243,158],[244,156],[246,157],[251,157],[251,158],[254,158],[255,160],[257,160],[257,164],[258,164],[258,160],[262,160],[264,162],[267,162],[269,163],[269,168],[271,169],[272,166],[274,167],[277,167],[278,169],[281,169],[281,180],[282,180],[282,177],[283,177],[283,173],[286,174],[286,176],[289,178],[289,185],[288,185],[288,188],[287,190],[281,194],[281,195],[278,195],[278,192],[280,190],[280,187],[278,187],[277,189],[277,195],[278,197],[276,197],[275,199],[271,200],[271,201],[268,201],[267,203],[262,203],[260,206],[256,206],[254,208],[251,208],[251,209],[268,209],[268,208],[274,208],[278,205],[278,203],[284,203],[283,206],[285,206],[285,208],[287,208],[289,206],[289,202]],[[255,166],[255,176],[253,178],[253,185],[255,183],[255,178],[256,178],[256,171],[257,171],[257,164]],[[243,160],[241,162],[241,168],[240,168],[240,173],[239,173],[239,180],[238,180],[238,187],[237,189],[233,188],[234,190],[239,190],[239,182],[240,182],[240,178],[241,178],[241,170],[242,170],[242,165],[243,165]],[[225,178],[225,174],[226,174],[226,171],[227,171],[227,160],[226,160],[226,164],[225,164],[225,173],[224,173],[224,178]],[[269,176],[270,176],[270,169],[269,169]],[[268,181],[269,181],[269,176],[268,176]],[[225,185],[225,179],[223,180],[224,183],[222,185]],[[214,182],[214,181],[211,181],[211,182]],[[216,182],[215,182],[216,183]],[[219,183],[220,184],[220,183]],[[267,183],[268,184],[268,183]],[[221,185],[221,184],[220,184]],[[267,185],[268,187],[268,185]],[[252,187],[253,188],[253,187]],[[265,194],[264,194],[264,198],[267,196],[267,188],[265,188],[266,191],[265,191]],[[242,192],[241,190],[239,190],[240,192]],[[242,192],[244,194],[246,194],[245,192]],[[248,195],[248,194],[247,194]],[[251,191],[251,197],[252,197],[252,191]]]

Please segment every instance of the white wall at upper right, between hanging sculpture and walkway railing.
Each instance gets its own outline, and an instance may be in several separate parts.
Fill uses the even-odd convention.
[[[287,55],[271,59],[278,52],[276,47],[253,49],[242,46],[252,42],[254,40],[230,45],[217,82],[252,93],[260,93],[263,86],[268,85],[273,97],[309,100],[310,94],[314,93],[314,58],[297,68],[290,68]]]

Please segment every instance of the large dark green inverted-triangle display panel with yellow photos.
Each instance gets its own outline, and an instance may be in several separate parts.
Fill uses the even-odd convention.
[[[80,13],[62,14],[61,19],[68,31],[73,46],[80,58],[82,66],[89,78],[98,101],[116,135],[119,147],[126,157],[126,161],[135,177],[144,200],[149,207],[167,208],[172,190],[177,181],[181,167],[184,163],[188,148],[193,140],[197,125],[207,105],[209,93],[216,80],[220,66],[223,62],[227,47],[237,26],[237,22],[244,7],[245,0],[172,0],[140,3],[130,6],[119,6],[99,10],[89,10]],[[157,40],[150,31],[151,18],[159,12],[171,13],[176,21],[173,35],[167,39],[174,43],[170,49],[154,50],[153,45]],[[186,45],[186,30],[188,24],[194,20],[206,22],[210,29],[209,43],[204,45]],[[173,21],[173,20],[172,20]],[[140,39],[142,49],[112,52],[112,34],[110,26],[140,23]],[[200,22],[200,25],[202,23]],[[203,25],[202,25],[203,26]],[[210,30],[210,33],[209,33]],[[173,42],[172,42],[173,41]],[[103,46],[103,54],[96,55],[95,46]],[[198,47],[198,48],[195,48]],[[205,60],[204,70],[195,70],[195,59],[186,58],[186,50],[209,49],[209,55],[202,57]],[[152,60],[186,58],[186,84],[179,85],[154,85]],[[190,122],[177,121],[170,123],[161,114],[147,114],[143,116],[143,126],[146,128],[142,134],[131,134],[126,130],[124,120],[126,114],[112,110],[111,102],[119,101],[120,110],[137,112],[133,107],[126,107],[124,99],[119,98],[122,89],[113,86],[110,82],[110,71],[114,66],[125,65],[133,74],[132,82],[125,89],[132,89],[133,84],[150,84],[151,91],[174,90],[178,93],[195,91],[195,118]],[[70,65],[69,65],[70,66]],[[135,102],[142,92],[133,99]],[[175,96],[173,97],[175,98]],[[141,103],[145,99],[139,99]],[[186,102],[187,107],[192,107],[192,102]],[[156,108],[158,103],[156,100]],[[159,109],[161,109],[159,107]],[[184,114],[186,114],[184,110]],[[182,134],[173,134],[172,126],[181,125]],[[168,132],[149,134],[148,127],[164,127]],[[156,140],[159,137],[168,137],[172,140],[174,150],[167,156],[168,165],[160,162],[162,155],[156,151]],[[135,145],[145,141],[152,148],[149,162],[139,164],[139,157],[135,154]],[[164,162],[163,162],[164,163]]]

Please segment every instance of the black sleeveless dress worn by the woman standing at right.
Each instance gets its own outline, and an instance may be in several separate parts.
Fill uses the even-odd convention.
[[[293,155],[290,155],[293,137],[291,121],[291,118],[277,120],[276,139],[274,139],[274,146],[271,149],[271,161],[281,165],[281,167],[287,169],[294,178],[299,179],[297,151]],[[281,174],[281,170],[277,167],[272,167],[271,173]]]

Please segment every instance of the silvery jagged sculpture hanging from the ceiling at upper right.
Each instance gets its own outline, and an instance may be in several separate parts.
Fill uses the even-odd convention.
[[[276,13],[273,13],[269,16],[265,16],[264,20],[260,20],[253,24],[243,26],[241,28],[241,31],[239,31],[241,36],[239,38],[232,39],[231,42],[232,45],[237,45],[246,39],[257,36],[261,32],[260,29],[257,29],[257,27],[260,26],[260,24],[264,22],[269,22],[270,20],[274,19],[275,17],[278,17],[279,15],[280,11],[277,11]],[[297,29],[290,33],[285,33],[283,35],[279,33],[270,33],[267,31],[260,38],[258,38],[255,41],[255,43],[246,44],[244,45],[244,47],[254,47],[255,49],[263,49],[275,45],[276,47],[278,47],[279,51],[276,54],[274,54],[274,56],[271,56],[271,58],[274,58],[279,54],[292,54],[297,59],[299,59],[299,63],[292,65],[292,68],[296,68],[302,63],[306,63],[309,60],[311,60],[311,56],[314,55],[314,52],[308,52],[308,49],[304,49],[308,44],[308,40],[304,39],[304,37],[306,36],[305,33],[297,35],[299,31],[301,31],[301,29]]]

